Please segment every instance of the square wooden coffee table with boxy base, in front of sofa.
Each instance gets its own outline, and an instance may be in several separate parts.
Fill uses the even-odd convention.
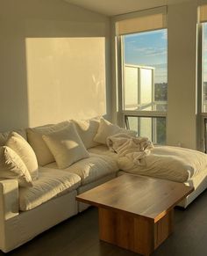
[[[99,238],[149,255],[173,231],[174,207],[194,190],[182,183],[125,174],[76,196],[99,213]]]

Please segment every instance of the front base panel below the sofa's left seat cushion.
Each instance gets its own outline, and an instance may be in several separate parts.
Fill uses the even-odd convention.
[[[12,195],[13,194],[12,191]],[[50,201],[46,201],[46,203],[39,205],[37,208],[20,212],[18,216],[11,217],[11,219],[5,223],[4,228],[0,229],[0,241],[2,240],[0,249],[3,252],[10,252],[45,230],[54,227],[56,224],[61,223],[71,216],[75,216],[77,214],[77,202],[75,201],[76,195],[76,190],[73,190],[67,194],[57,196]],[[15,210],[14,205],[12,208]],[[60,236],[62,236],[62,234],[60,234]],[[48,241],[48,243],[53,242]],[[35,243],[33,245],[35,245]],[[24,247],[22,247],[20,251],[25,252]],[[36,256],[37,253],[35,252],[35,249],[29,251],[30,255],[32,254]],[[24,252],[20,254],[25,256],[26,253]],[[7,255],[18,255],[18,251],[17,253],[8,253]],[[57,254],[46,251],[42,251],[42,253],[39,254],[39,256],[46,255],[56,256]],[[61,255],[65,255],[65,253],[61,251]]]

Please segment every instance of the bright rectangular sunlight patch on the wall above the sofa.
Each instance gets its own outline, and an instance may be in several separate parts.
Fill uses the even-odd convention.
[[[106,113],[104,38],[27,38],[29,125]]]

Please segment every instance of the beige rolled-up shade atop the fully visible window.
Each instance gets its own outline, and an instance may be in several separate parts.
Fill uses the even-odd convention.
[[[123,17],[123,16],[122,16]],[[137,11],[117,21],[117,34],[139,33],[167,27],[167,7]]]

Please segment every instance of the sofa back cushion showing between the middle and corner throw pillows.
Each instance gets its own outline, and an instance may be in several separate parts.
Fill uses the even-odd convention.
[[[75,128],[82,139],[86,149],[96,147],[99,143],[93,141],[99,127],[100,118],[77,121],[73,120]]]

